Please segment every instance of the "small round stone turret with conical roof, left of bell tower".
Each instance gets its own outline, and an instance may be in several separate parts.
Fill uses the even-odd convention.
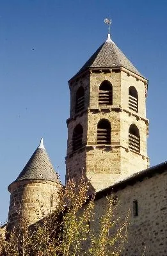
[[[56,206],[61,188],[58,173],[54,171],[41,139],[19,177],[8,186],[11,193],[8,227],[14,227],[20,218],[28,225],[44,218]]]

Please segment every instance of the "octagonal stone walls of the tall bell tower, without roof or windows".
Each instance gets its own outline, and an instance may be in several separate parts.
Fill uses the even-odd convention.
[[[107,80],[113,86],[113,105],[100,106],[99,86]],[[91,70],[69,82],[71,93],[68,124],[67,179],[78,179],[84,172],[95,190],[110,186],[134,172],[148,167],[145,97],[147,79],[125,68]],[[84,110],[75,114],[75,97],[79,86],[85,90]],[[129,86],[138,92],[138,113],[129,109]],[[111,123],[111,145],[97,146],[97,124],[105,118]],[[83,148],[72,152],[72,134],[77,124],[83,126]],[[129,150],[129,126],[136,124],[140,136],[140,152]]]

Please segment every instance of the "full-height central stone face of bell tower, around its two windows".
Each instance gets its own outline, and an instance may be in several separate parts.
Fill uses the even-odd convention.
[[[99,86],[104,80],[113,86],[112,106],[99,106]],[[120,175],[120,148],[112,148],[120,145],[120,113],[111,109],[113,106],[120,107],[120,72],[92,71],[87,145],[93,147],[86,152],[86,176],[97,191],[113,184]],[[111,123],[111,147],[96,147],[97,124],[103,118]]]

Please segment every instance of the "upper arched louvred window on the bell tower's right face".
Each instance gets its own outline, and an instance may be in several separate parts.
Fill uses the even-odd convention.
[[[134,86],[129,87],[129,109],[138,112],[138,92]]]

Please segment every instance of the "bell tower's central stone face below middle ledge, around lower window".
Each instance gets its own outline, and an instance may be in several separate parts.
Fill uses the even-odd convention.
[[[97,124],[100,119],[106,118],[111,123],[111,146],[97,146]],[[111,186],[120,175],[120,114],[115,111],[108,113],[88,113],[88,146],[86,152],[86,176],[92,186],[99,191]],[[116,147],[117,146],[117,147]]]

